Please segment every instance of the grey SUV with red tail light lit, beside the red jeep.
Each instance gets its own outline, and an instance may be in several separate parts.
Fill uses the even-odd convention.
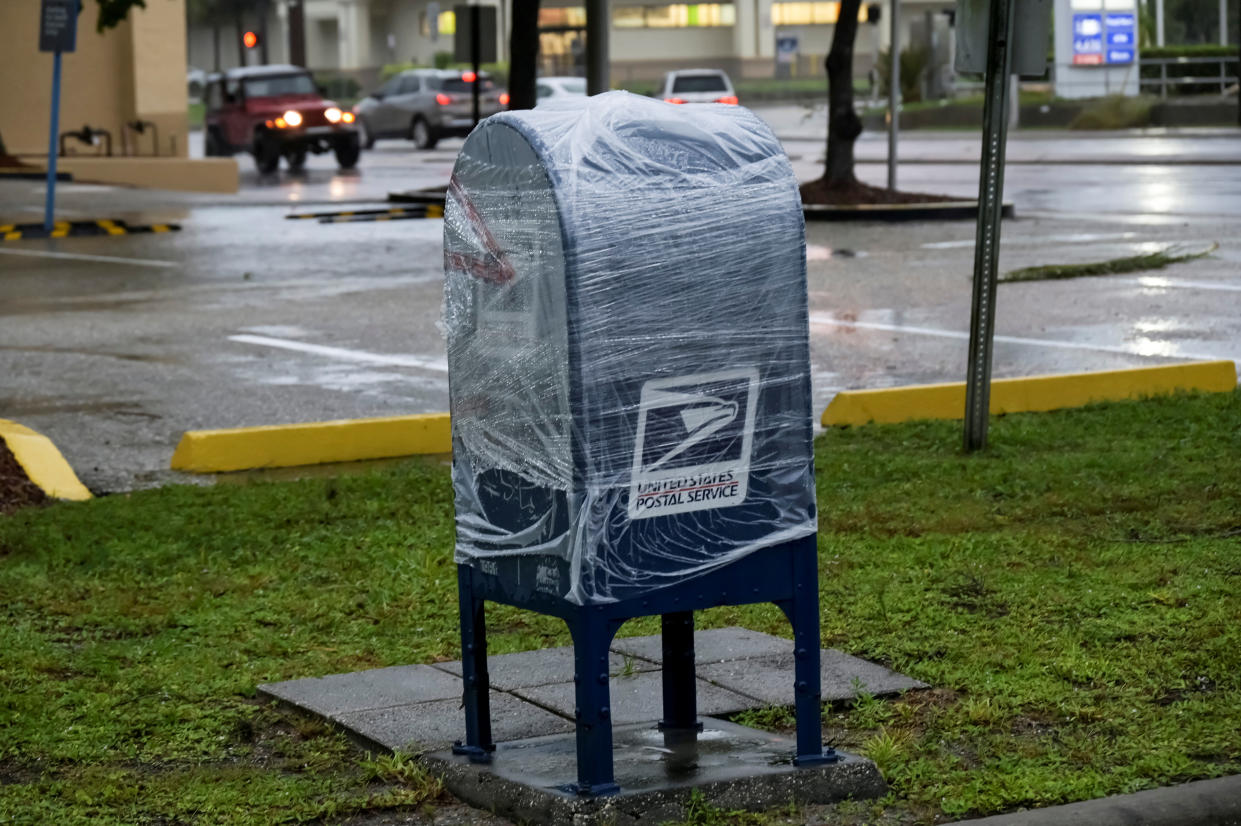
[[[377,138],[408,138],[418,149],[433,149],[442,138],[464,138],[474,128],[474,84],[479,117],[509,105],[509,93],[486,72],[408,69],[357,102],[354,112],[370,149]]]

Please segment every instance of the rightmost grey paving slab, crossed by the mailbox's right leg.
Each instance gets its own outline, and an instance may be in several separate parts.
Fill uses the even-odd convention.
[[[925,682],[906,677],[875,662],[825,649],[820,652],[823,699],[853,699],[860,688],[875,697],[910,688],[926,688]],[[783,654],[697,667],[700,680],[709,680],[732,692],[753,697],[768,706],[793,704],[793,655]]]

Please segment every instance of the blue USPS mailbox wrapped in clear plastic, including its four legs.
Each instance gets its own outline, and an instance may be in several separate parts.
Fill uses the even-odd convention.
[[[484,603],[562,618],[578,794],[617,790],[608,646],[660,614],[670,735],[700,728],[692,611],[793,624],[799,763],[823,750],[805,239],[740,107],[622,92],[506,112],[444,210],[465,740],[494,749]]]

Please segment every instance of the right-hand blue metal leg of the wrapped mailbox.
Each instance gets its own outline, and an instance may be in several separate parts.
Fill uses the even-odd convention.
[[[793,697],[797,709],[795,765],[835,763],[823,749],[823,683],[819,637],[819,559],[815,546],[793,552],[793,598],[779,603],[793,625]]]

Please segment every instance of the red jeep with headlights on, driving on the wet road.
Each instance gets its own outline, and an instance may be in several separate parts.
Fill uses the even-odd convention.
[[[284,156],[298,170],[307,153],[329,149],[341,169],[357,164],[361,144],[354,113],[325,100],[314,78],[297,66],[249,66],[207,81],[206,154],[247,151],[268,175]]]

